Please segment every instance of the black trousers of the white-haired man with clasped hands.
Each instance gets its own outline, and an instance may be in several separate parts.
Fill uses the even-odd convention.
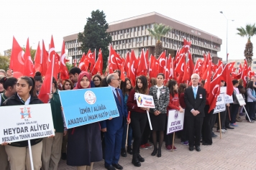
[[[186,117],[188,127],[188,143],[189,146],[200,146],[201,131],[204,118],[201,117]],[[194,138],[194,134],[196,138]]]

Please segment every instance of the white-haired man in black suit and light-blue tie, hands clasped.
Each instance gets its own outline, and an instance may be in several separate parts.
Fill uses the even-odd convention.
[[[188,129],[189,151],[200,149],[201,130],[204,121],[204,106],[206,105],[206,90],[198,86],[199,75],[191,75],[192,86],[186,88],[184,100],[186,103],[185,116]],[[196,138],[194,138],[194,135]]]

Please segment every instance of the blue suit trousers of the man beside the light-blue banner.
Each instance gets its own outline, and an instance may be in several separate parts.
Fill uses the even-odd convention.
[[[111,166],[111,164],[117,164],[121,154],[122,136],[124,126],[119,130],[106,129],[105,137],[105,166]]]

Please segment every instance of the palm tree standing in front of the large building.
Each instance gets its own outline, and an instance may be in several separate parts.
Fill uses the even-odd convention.
[[[163,52],[163,44],[160,38],[170,32],[171,28],[165,24],[154,24],[153,29],[147,29],[150,32],[150,36],[157,39],[155,44],[155,57],[158,58]]]

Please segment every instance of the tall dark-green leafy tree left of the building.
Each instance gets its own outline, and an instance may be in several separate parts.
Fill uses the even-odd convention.
[[[96,49],[99,52],[101,48],[104,67],[106,67],[106,61],[109,57],[109,43],[112,41],[112,37],[106,32],[106,29],[109,29],[106,15],[104,11],[97,9],[91,12],[91,18],[87,18],[83,33],[78,34],[78,42],[82,42],[82,52],[87,53],[88,49],[92,51]]]

